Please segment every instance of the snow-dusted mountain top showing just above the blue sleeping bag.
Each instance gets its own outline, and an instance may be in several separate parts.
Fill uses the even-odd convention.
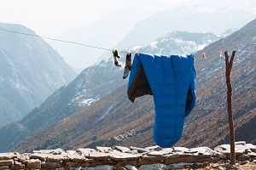
[[[134,45],[131,50],[150,54],[191,54],[221,37],[208,32],[173,31],[154,42]]]

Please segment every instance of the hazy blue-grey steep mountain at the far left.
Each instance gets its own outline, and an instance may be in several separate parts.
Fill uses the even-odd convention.
[[[19,121],[76,73],[25,26],[0,23],[0,127]],[[13,31],[13,32],[10,32]],[[43,92],[43,93],[42,93]]]

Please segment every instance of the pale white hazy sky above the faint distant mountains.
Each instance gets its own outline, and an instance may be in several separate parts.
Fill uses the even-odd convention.
[[[0,22],[26,26],[38,35],[58,37],[70,29],[86,26],[114,9],[140,11],[137,20],[178,0],[0,0]]]

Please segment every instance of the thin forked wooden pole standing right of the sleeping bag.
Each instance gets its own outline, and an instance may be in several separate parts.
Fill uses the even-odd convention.
[[[232,84],[230,80],[232,65],[234,61],[236,51],[232,52],[232,56],[229,61],[228,52],[225,51],[225,65],[226,65],[226,83],[228,88],[228,113],[229,113],[229,122],[230,122],[230,163],[231,165],[235,165],[236,162],[236,153],[235,153],[235,131],[234,131],[234,123],[233,123],[233,115],[232,115]]]

